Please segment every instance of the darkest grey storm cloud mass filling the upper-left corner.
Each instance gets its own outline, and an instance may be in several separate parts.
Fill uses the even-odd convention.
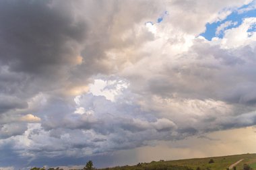
[[[0,2],[0,55],[11,71],[48,72],[69,64],[86,36],[86,22],[75,18],[72,3]]]

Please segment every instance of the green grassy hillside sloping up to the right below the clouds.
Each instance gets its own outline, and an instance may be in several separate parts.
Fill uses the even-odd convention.
[[[209,163],[210,159],[214,160],[214,163]],[[158,169],[168,169],[171,166],[186,166],[191,169],[211,169],[211,170],[226,170],[230,165],[236,163],[237,161],[244,159],[236,165],[237,170],[242,170],[243,165],[246,163],[256,170],[256,154],[243,154],[243,155],[230,155],[224,157],[208,157],[208,158],[198,158],[198,159],[182,159],[177,161],[152,161],[151,163],[140,163],[134,166],[125,167],[113,167],[109,170],[158,170]],[[159,168],[161,167],[161,168]]]

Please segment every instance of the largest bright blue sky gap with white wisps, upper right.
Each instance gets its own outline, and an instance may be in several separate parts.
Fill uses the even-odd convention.
[[[228,30],[230,28],[237,28],[240,26],[243,22],[243,19],[246,17],[256,17],[256,9],[255,9],[255,2],[249,3],[248,5],[243,5],[242,7],[236,9],[230,15],[226,17],[226,19],[223,19],[222,21],[214,22],[212,24],[207,23],[206,24],[206,30],[200,36],[203,36],[207,40],[212,40],[214,37],[223,38],[224,36],[224,30]],[[226,23],[226,24],[225,24]],[[226,27],[224,27],[225,24]],[[217,31],[219,26],[223,26],[223,30],[220,32]],[[256,30],[256,26],[253,26],[248,31],[254,32]],[[216,34],[216,31],[219,34]]]

